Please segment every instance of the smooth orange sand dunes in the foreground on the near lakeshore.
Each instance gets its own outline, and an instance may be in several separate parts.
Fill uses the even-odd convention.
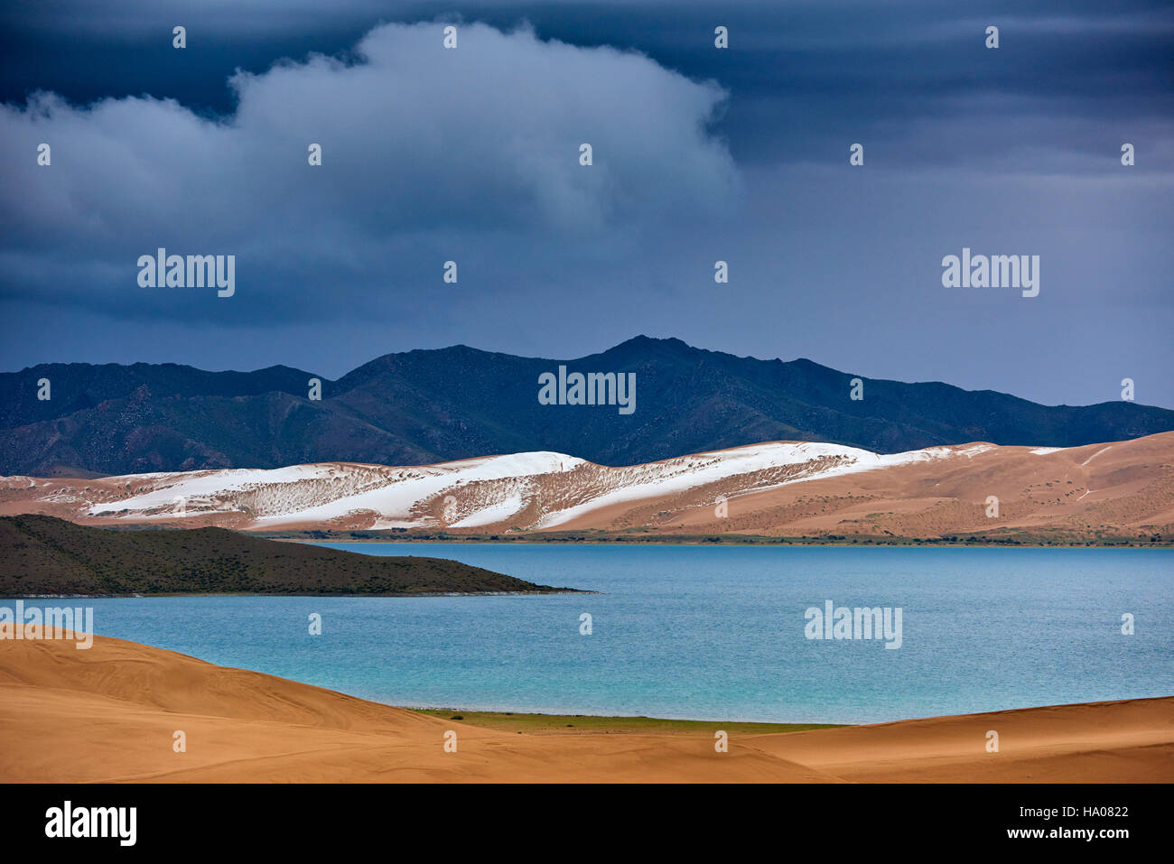
[[[5,640],[0,781],[1170,782],[1174,697],[731,734],[718,754],[708,731],[499,731],[116,639]]]

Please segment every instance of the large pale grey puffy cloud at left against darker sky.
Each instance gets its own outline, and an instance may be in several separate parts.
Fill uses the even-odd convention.
[[[386,25],[353,62],[241,73],[215,121],[149,97],[0,108],[0,160],[16,166],[0,190],[6,293],[157,319],[331,316],[434,289],[448,259],[484,285],[527,247],[607,259],[679,214],[731,210],[736,170],[707,133],[717,86],[525,29],[459,39],[445,50],[436,25]],[[26,157],[40,142],[48,169]],[[236,255],[234,308],[140,286],[136,261],[160,247]]]

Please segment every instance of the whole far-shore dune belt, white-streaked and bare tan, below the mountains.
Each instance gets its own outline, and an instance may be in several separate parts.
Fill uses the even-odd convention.
[[[775,441],[627,467],[544,452],[412,467],[0,479],[0,514],[31,512],[244,531],[1170,540],[1174,432],[1082,447],[974,443],[893,454]]]

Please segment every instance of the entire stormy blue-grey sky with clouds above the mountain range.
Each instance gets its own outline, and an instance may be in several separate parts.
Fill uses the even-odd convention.
[[[4,371],[645,333],[1174,407],[1168,2],[48,0],[0,52]],[[141,285],[158,248],[235,293]],[[964,248],[1038,296],[944,286]]]

